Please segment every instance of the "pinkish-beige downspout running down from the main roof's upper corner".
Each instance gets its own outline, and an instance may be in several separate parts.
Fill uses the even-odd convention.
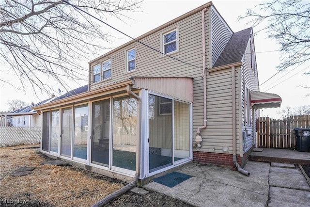
[[[205,23],[204,23],[204,13],[207,8],[202,10],[202,75],[203,75],[203,126],[197,128],[197,134],[195,141],[197,147],[202,147],[202,137],[200,136],[200,130],[207,127],[207,84],[206,84],[206,66],[205,66]]]

